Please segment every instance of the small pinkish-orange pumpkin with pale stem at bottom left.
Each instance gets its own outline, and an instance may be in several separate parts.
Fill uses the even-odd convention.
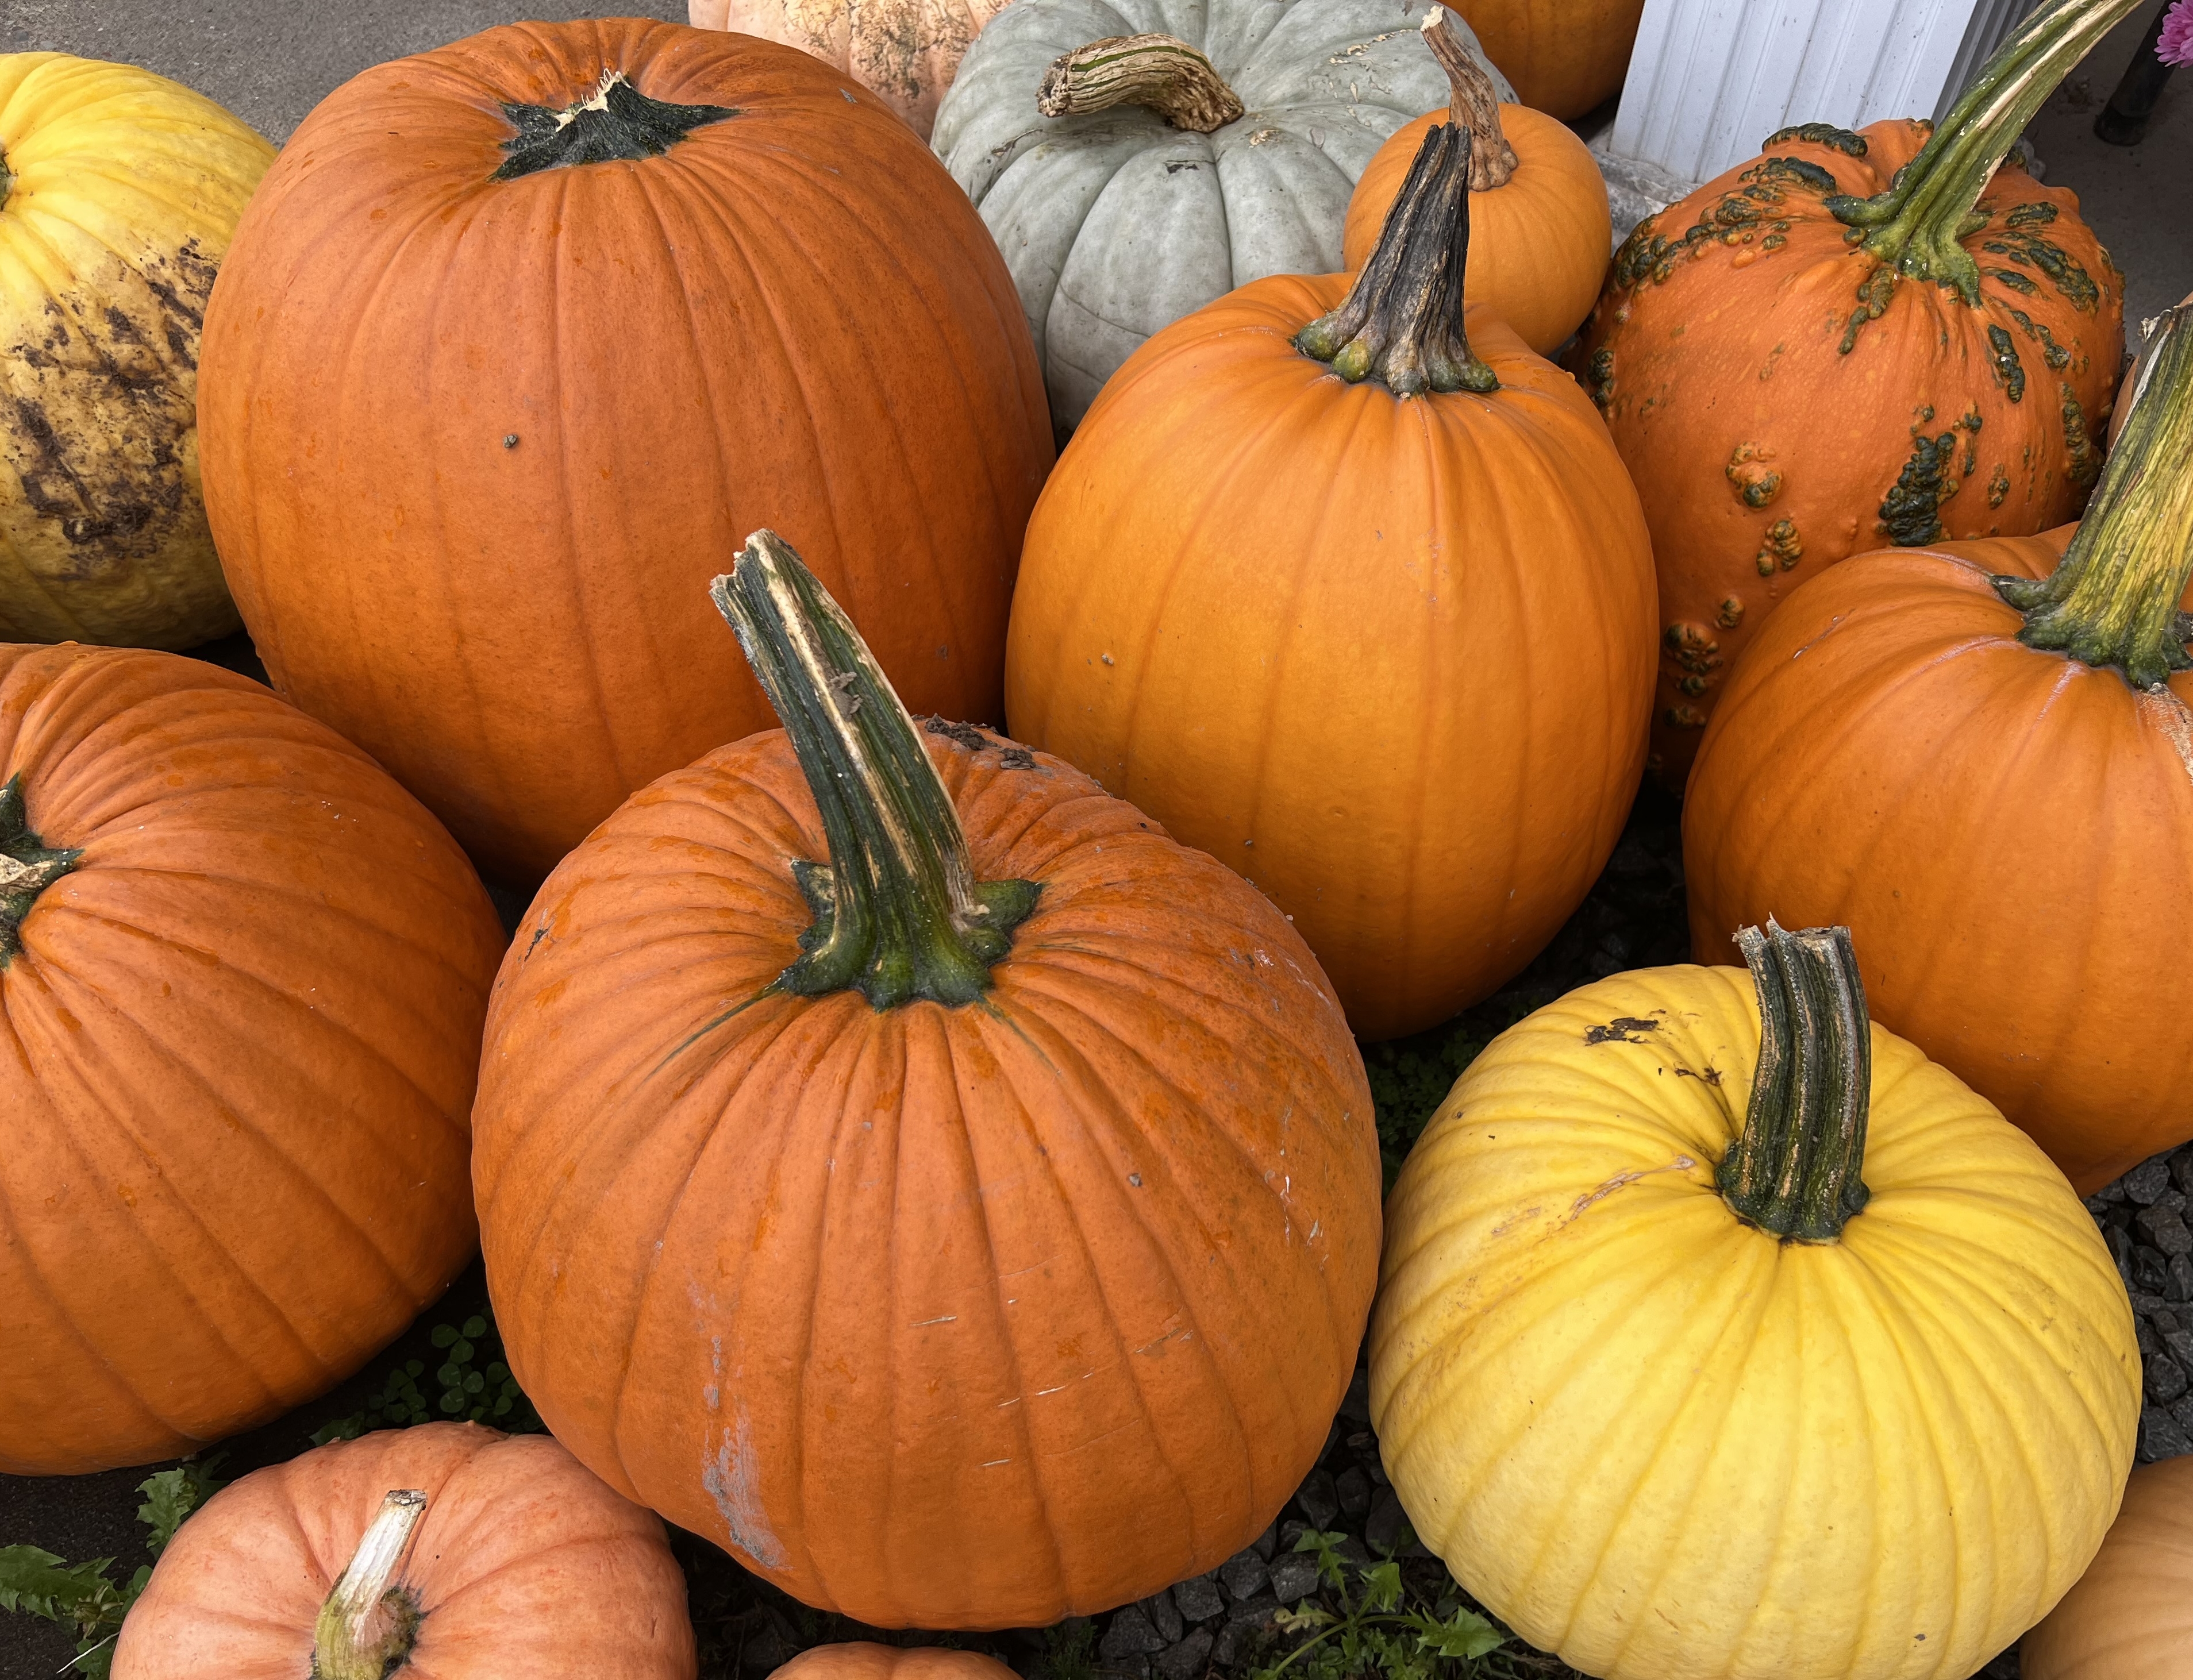
[[[693,1680],[662,1520],[544,1434],[377,1430],[215,1494],[114,1680]]]

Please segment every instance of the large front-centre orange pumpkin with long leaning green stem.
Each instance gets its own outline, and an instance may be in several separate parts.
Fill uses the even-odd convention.
[[[1371,1309],[1331,987],[1070,765],[917,735],[770,533],[719,590],[789,735],[636,794],[496,983],[511,1369],[612,1487],[873,1625],[1215,1568],[1316,1463]]]

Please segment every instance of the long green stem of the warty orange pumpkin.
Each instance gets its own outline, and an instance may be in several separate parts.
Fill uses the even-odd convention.
[[[1886,294],[1904,274],[1956,287],[1967,305],[1978,307],[1980,265],[1961,241],[1985,228],[1987,217],[1976,219],[1972,206],[2057,83],[2140,4],[2145,0],[2046,0],[1980,66],[1886,193],[1827,200],[1829,215],[1851,228],[1851,241],[1886,265],[1884,279],[1860,294],[1864,318],[1882,314]],[[1862,320],[1853,316],[1853,329]],[[1842,349],[1849,351],[1855,338],[1855,331],[1847,333]]]

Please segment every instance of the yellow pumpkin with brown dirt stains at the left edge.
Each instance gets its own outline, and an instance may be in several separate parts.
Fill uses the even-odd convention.
[[[270,162],[167,77],[0,55],[0,643],[241,625],[197,491],[197,333]]]

